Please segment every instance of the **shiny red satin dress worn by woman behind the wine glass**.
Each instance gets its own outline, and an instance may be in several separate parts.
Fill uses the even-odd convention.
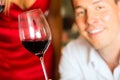
[[[29,1],[29,0],[28,0]],[[49,0],[36,0],[27,10],[41,8],[45,12]],[[9,14],[0,13],[0,80],[44,80],[43,70],[37,56],[27,51],[20,42],[18,15],[24,11],[11,4]],[[52,78],[53,48],[45,53],[45,66]]]

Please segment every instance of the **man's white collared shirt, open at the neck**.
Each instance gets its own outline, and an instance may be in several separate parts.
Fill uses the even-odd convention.
[[[82,37],[62,51],[60,80],[120,80],[120,65],[112,73],[97,51]]]

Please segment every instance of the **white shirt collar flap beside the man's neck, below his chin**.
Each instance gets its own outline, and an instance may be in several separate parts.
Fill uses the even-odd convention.
[[[108,79],[112,78],[111,71],[94,48],[91,48],[89,53],[88,65],[91,65],[98,74],[101,74]]]

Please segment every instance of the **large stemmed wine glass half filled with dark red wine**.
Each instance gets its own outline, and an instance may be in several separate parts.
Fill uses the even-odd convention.
[[[41,9],[33,9],[18,16],[19,34],[22,45],[40,57],[45,80],[48,80],[44,65],[44,54],[51,42],[51,31]]]

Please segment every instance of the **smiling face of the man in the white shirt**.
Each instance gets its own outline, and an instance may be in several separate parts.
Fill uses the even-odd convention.
[[[73,0],[80,35],[96,49],[109,46],[120,35],[120,8],[114,0]]]

